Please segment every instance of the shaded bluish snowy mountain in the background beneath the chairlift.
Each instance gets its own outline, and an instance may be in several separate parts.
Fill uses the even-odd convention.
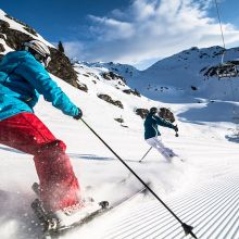
[[[225,62],[239,58],[239,48],[228,49]],[[175,101],[177,96],[207,99],[239,100],[238,78],[222,79],[205,78],[206,67],[218,65],[222,60],[222,48],[190,48],[169,58],[154,63],[151,67],[130,78],[130,87],[155,100]],[[203,71],[204,70],[204,71]]]

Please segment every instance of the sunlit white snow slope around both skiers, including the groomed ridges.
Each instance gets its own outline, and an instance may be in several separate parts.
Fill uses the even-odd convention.
[[[203,239],[239,238],[239,147],[236,125],[229,114],[231,102],[164,104],[125,95],[113,86],[79,91],[54,77],[70,98],[83,109],[84,120],[136,171],[158,196],[168,203],[179,218],[194,227]],[[101,85],[102,84],[102,85]],[[120,98],[124,110],[96,97],[104,89]],[[118,93],[118,95],[117,95]],[[138,163],[149,146],[143,140],[143,121],[134,113],[134,105],[150,108],[169,105],[178,116],[179,137],[168,128],[161,128],[166,146],[186,162],[166,162],[151,150]],[[36,114],[54,135],[67,144],[83,193],[111,203],[141,188],[124,165],[81,123],[63,115],[48,102],[40,100]],[[114,121],[123,117],[123,127]],[[203,121],[204,120],[204,121]],[[35,194],[30,189],[37,176],[32,155],[0,146],[0,236],[2,239],[37,238],[39,226],[30,210]],[[125,179],[125,180],[124,180]],[[150,193],[78,228],[63,238],[184,238],[180,224]],[[190,238],[188,236],[187,238]]]

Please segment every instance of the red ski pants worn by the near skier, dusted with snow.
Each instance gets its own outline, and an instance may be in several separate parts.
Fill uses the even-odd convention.
[[[51,211],[79,203],[79,186],[66,146],[32,113],[0,121],[0,143],[34,155],[40,198]]]

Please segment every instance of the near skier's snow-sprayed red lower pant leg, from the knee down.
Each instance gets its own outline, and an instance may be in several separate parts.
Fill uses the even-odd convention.
[[[45,144],[34,161],[45,206],[56,211],[80,203],[78,181],[62,141],[54,140]]]

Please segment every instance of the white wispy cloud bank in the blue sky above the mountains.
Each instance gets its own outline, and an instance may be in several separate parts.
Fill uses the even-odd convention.
[[[222,46],[219,25],[216,15],[209,16],[210,8],[215,8],[212,0],[134,0],[124,11],[89,15],[90,39],[65,42],[66,52],[85,61],[143,65],[192,46]],[[232,24],[224,23],[223,30],[227,47],[239,41],[239,29]]]

